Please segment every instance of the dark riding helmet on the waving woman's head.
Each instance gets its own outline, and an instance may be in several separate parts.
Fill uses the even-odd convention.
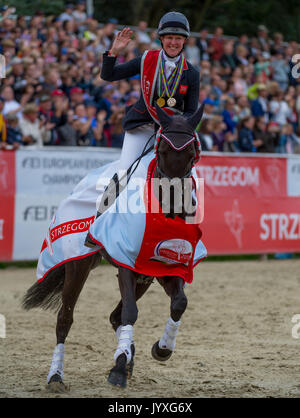
[[[188,38],[190,36],[190,25],[182,13],[168,12],[160,19],[157,34],[158,36],[183,35]]]

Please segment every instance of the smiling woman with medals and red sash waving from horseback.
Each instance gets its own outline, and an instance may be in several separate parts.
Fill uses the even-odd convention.
[[[146,51],[143,56],[115,65],[117,56],[128,45],[132,35],[130,28],[124,28],[116,36],[111,49],[103,55],[103,80],[141,76],[141,96],[127,109],[123,120],[125,137],[119,165],[121,170],[131,166],[154,136],[159,123],[155,103],[170,115],[180,112],[186,117],[198,108],[199,72],[183,55],[184,44],[190,36],[187,18],[178,12],[166,13],[157,32],[162,44],[160,51]],[[148,145],[153,143],[154,139]]]

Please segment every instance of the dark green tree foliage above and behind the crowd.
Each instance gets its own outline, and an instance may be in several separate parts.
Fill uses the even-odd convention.
[[[57,15],[70,2],[7,0],[0,3],[16,7],[18,14],[32,15],[43,10],[47,15]],[[271,34],[281,32],[286,40],[300,42],[300,0],[94,0],[94,9],[94,17],[101,23],[114,17],[121,25],[136,25],[143,19],[155,28],[164,13],[176,10],[188,17],[193,32],[203,26],[213,30],[220,25],[226,35],[255,36],[257,26],[264,24]]]

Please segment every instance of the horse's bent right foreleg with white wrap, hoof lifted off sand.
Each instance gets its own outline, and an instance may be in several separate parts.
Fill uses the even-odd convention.
[[[180,277],[166,277],[158,280],[171,298],[170,317],[166,323],[163,336],[152,347],[152,356],[159,361],[168,360],[176,346],[180,319],[187,307],[184,294],[184,281]]]

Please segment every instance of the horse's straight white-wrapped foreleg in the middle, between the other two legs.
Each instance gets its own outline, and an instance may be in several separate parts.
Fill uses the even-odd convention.
[[[121,324],[116,329],[118,346],[114,354],[116,365],[111,369],[108,382],[115,386],[125,387],[127,384],[128,365],[133,357],[133,325],[137,320],[136,305],[137,275],[126,268],[119,268],[119,287],[122,304],[116,308],[121,310]]]

